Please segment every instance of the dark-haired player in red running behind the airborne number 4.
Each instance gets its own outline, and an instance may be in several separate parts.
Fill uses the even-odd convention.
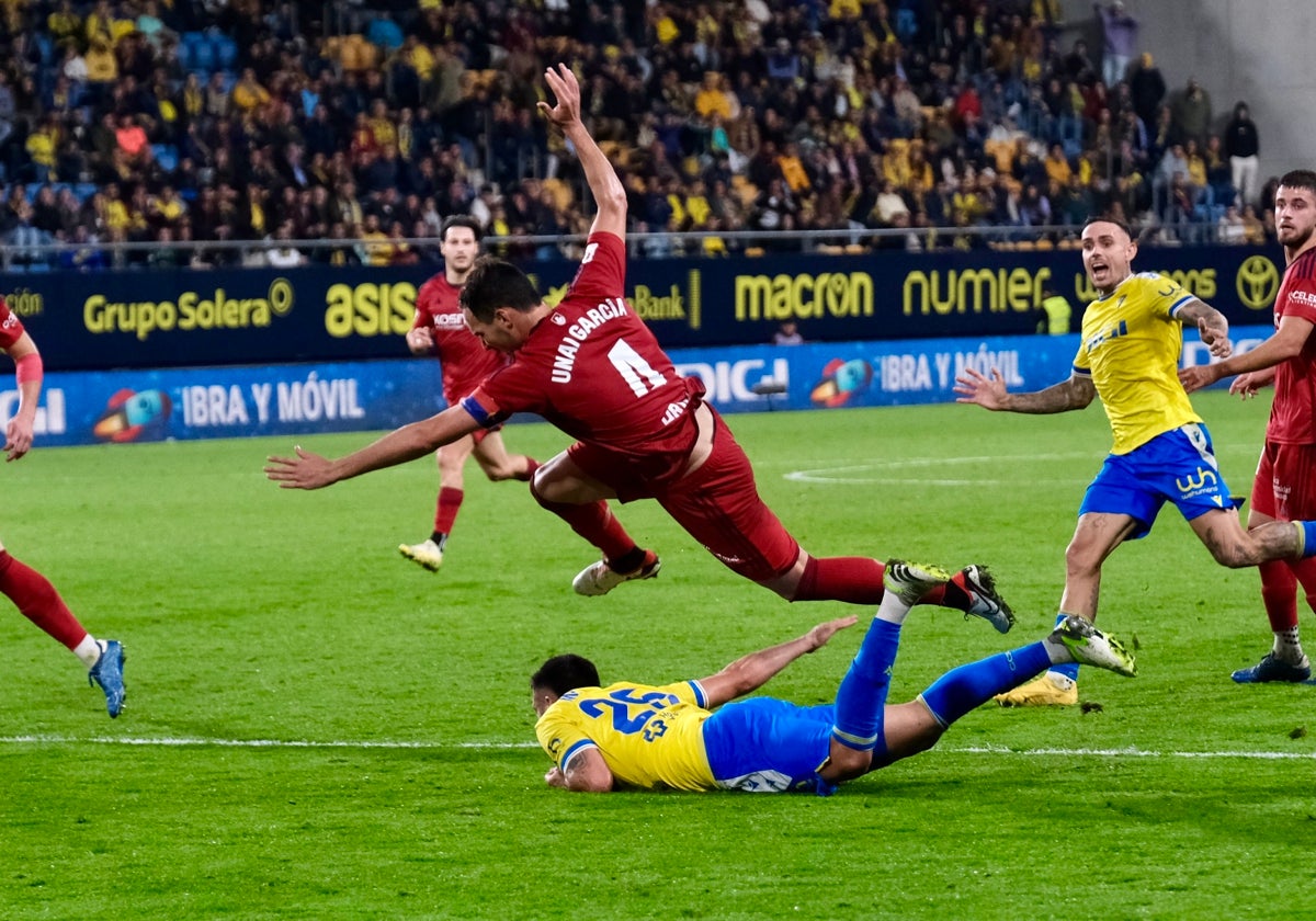
[[[480,225],[468,214],[453,214],[438,232],[438,251],[443,271],[420,287],[416,295],[416,318],[407,333],[407,347],[413,355],[437,355],[443,374],[443,399],[447,405],[475,389],[488,375],[507,364],[507,355],[490,351],[471,336],[457,303],[466,276],[471,274],[480,253]],[[438,501],[434,509],[434,532],[420,543],[401,543],[397,551],[430,572],[443,562],[443,547],[453,533],[453,522],[465,499],[462,472],[466,462],[475,462],[495,483],[529,480],[538,463],[524,454],[508,454],[500,426],[476,429],[438,449]]]

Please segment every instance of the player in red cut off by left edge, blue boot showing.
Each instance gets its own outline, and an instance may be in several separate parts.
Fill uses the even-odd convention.
[[[0,297],[0,349],[14,362],[18,411],[5,428],[5,460],[17,460],[32,450],[37,400],[41,399],[41,353],[22,322]],[[9,555],[0,545],[0,592],[24,617],[67,646],[87,666],[88,683],[105,692],[111,717],[124,708],[124,647],[116,639],[96,639],[87,633],[46,576]]]

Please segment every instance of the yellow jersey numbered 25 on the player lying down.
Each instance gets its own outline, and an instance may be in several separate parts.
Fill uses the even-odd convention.
[[[597,749],[621,784],[716,789],[703,739],[707,703],[699,682],[576,688],[544,712],[534,734],[563,771],[579,753]]]

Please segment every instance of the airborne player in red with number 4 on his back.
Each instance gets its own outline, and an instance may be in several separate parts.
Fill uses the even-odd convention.
[[[525,274],[499,259],[475,263],[462,289],[471,332],[512,355],[458,405],[405,425],[345,458],[296,449],[271,457],[266,475],[283,488],[317,489],[418,458],[517,412],[542,416],[576,443],[541,466],[530,489],[546,509],[603,553],[572,585],[604,595],[650,579],[657,554],[640,547],[608,499],[655,499],[734,572],[790,601],[876,605],[883,563],[805,553],[758,495],[754,471],[697,378],[682,378],[649,328],[626,305],[626,193],[580,121],[580,88],[565,66],[545,79],[557,105],[540,109],[576,151],[599,212],[575,280],[557,307]],[[984,567],[970,566],[923,599],[976,614],[1004,633],[1013,614]]]

